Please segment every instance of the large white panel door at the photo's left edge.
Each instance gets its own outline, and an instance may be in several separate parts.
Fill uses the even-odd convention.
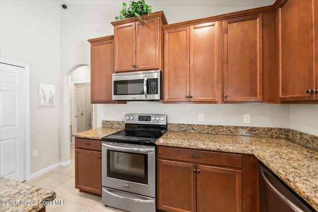
[[[26,71],[0,64],[0,176],[25,180]]]

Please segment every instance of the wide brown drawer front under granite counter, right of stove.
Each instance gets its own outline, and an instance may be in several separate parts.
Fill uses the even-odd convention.
[[[159,146],[158,156],[162,159],[242,168],[242,155],[240,154]]]

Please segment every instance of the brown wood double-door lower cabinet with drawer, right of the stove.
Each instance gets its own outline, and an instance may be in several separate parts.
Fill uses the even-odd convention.
[[[257,175],[251,174],[257,166],[245,169],[244,161],[248,162],[241,154],[159,146],[157,208],[164,212],[257,211]],[[256,158],[252,161],[257,163]]]

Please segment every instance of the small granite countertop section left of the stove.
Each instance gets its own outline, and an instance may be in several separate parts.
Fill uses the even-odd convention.
[[[82,138],[82,139],[96,139],[96,140],[101,140],[102,137],[108,136],[110,134],[116,133],[118,131],[124,130],[123,128],[96,128],[92,130],[87,130],[80,132],[76,135],[74,135],[77,138]]]

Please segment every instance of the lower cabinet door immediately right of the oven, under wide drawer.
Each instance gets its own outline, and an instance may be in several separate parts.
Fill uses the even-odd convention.
[[[158,162],[158,204],[166,212],[196,211],[196,173],[192,163],[161,160]]]

